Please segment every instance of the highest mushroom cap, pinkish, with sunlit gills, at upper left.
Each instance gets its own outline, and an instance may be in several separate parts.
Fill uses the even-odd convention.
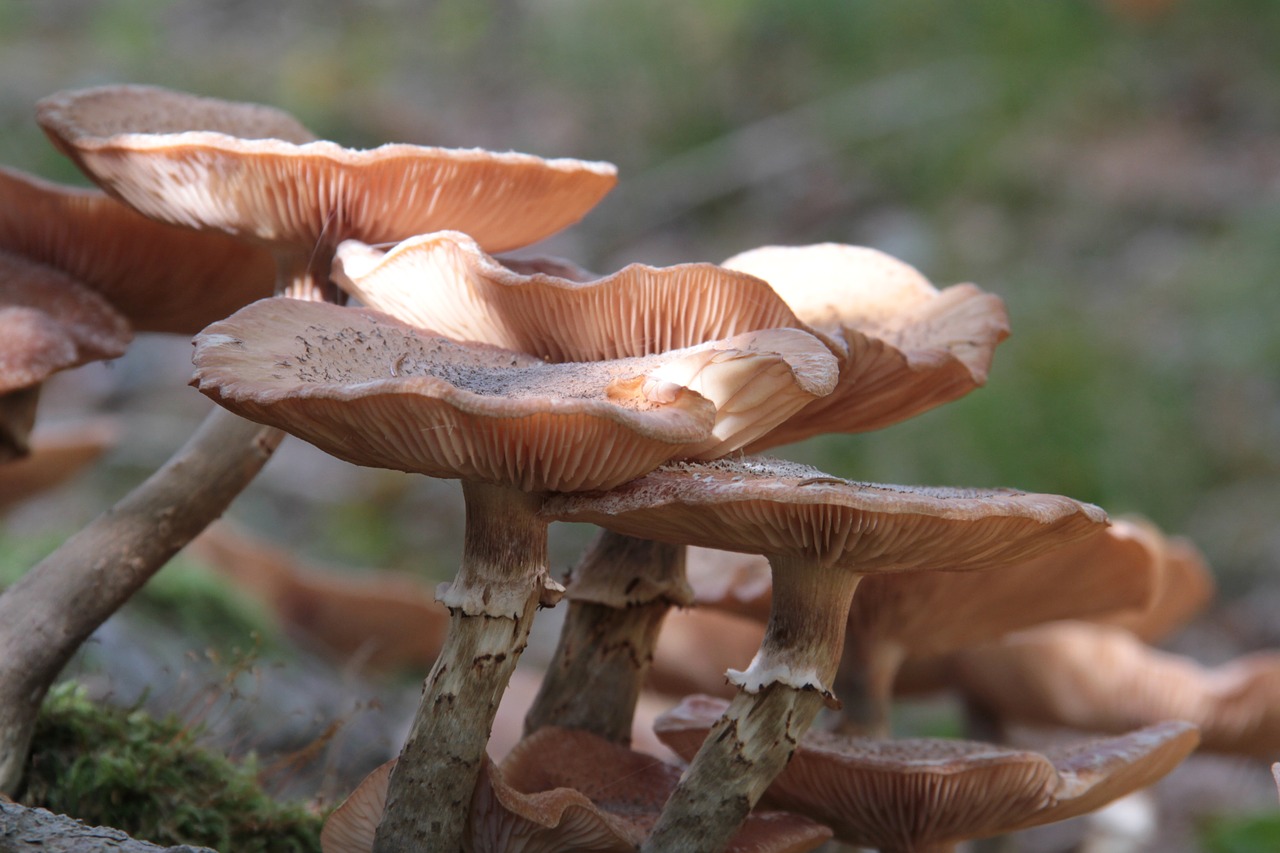
[[[147,216],[266,243],[370,243],[457,228],[489,251],[577,222],[616,183],[607,163],[384,145],[344,149],[287,114],[154,86],[59,92],[54,143]]]

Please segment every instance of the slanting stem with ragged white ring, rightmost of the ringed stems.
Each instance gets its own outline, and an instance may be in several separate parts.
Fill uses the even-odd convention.
[[[640,848],[722,850],[782,772],[836,675],[861,575],[771,556],[773,601],[760,652],[731,672],[739,693],[689,765]]]

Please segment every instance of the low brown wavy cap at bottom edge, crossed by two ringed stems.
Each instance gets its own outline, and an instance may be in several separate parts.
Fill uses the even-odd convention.
[[[387,798],[383,765],[339,806],[324,853],[367,853]],[[471,798],[465,849],[474,853],[628,853],[645,836],[680,768],[586,731],[548,726],[502,761],[486,761]],[[800,853],[831,830],[785,812],[756,812],[727,853]]]

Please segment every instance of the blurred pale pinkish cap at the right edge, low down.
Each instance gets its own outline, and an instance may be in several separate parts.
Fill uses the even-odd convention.
[[[1217,667],[1151,648],[1120,628],[1056,622],[952,658],[956,686],[1000,719],[1084,731],[1189,720],[1204,749],[1280,756],[1280,654]]]

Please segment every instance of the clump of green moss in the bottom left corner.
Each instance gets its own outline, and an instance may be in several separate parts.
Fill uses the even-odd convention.
[[[177,719],[97,706],[74,683],[45,701],[22,802],[156,844],[320,849],[323,816],[271,800],[252,760],[237,763],[200,747]]]

